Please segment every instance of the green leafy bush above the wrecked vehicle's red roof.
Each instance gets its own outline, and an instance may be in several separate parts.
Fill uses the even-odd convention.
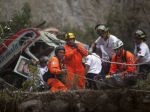
[[[20,12],[16,12],[9,21],[0,21],[0,37],[3,39],[9,34],[31,25],[31,9],[25,3]]]

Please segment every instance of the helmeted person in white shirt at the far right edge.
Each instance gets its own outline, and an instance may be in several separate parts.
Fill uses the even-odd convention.
[[[134,54],[137,57],[137,63],[145,63],[139,66],[139,73],[143,73],[143,78],[146,78],[150,72],[150,50],[146,44],[146,33],[138,29],[134,34]]]

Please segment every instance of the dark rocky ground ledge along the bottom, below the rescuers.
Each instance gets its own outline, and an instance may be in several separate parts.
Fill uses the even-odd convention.
[[[1,112],[150,112],[150,92],[134,89],[0,95]]]

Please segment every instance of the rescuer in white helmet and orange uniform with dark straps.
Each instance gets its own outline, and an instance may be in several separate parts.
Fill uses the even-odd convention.
[[[136,63],[136,58],[134,54],[132,54],[129,51],[126,51],[123,48],[123,42],[121,40],[118,40],[114,43],[113,49],[115,50],[115,54],[112,56],[111,62],[115,63],[111,63],[109,75],[113,78],[120,78],[123,81],[121,83],[125,85],[135,84],[136,65],[134,64]],[[116,81],[119,80],[116,79]]]

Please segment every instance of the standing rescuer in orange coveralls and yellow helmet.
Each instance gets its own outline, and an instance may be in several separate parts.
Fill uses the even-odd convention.
[[[83,44],[75,42],[76,36],[72,32],[65,35],[66,44],[64,45],[65,64],[67,67],[66,85],[69,89],[83,89],[85,87],[84,73],[85,68],[82,58],[87,56],[88,52]]]

